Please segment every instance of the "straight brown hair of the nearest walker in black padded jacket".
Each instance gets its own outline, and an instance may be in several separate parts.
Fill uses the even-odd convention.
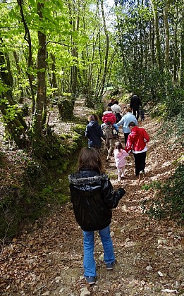
[[[92,147],[82,148],[78,158],[78,171],[88,169],[102,173],[102,157],[97,149]]]

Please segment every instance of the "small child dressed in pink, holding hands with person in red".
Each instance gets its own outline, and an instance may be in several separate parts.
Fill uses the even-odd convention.
[[[123,178],[125,175],[125,157],[129,156],[127,152],[123,149],[121,142],[115,143],[114,149],[114,159],[116,168],[118,170],[118,181],[121,181],[121,177]]]

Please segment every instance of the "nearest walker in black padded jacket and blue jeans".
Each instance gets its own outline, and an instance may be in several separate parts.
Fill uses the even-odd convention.
[[[112,209],[125,194],[114,190],[108,176],[102,172],[102,158],[94,148],[83,148],[78,159],[78,171],[68,176],[70,198],[75,219],[82,228],[84,246],[84,276],[93,285],[96,280],[94,261],[94,231],[99,231],[104,247],[106,269],[113,269],[114,247],[110,235]]]

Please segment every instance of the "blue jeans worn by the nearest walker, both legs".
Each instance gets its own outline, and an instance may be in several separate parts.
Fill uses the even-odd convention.
[[[104,247],[105,263],[113,263],[115,261],[114,248],[110,235],[110,226],[99,230],[99,235]],[[84,276],[97,276],[96,263],[94,261],[94,231],[83,231],[84,244]]]

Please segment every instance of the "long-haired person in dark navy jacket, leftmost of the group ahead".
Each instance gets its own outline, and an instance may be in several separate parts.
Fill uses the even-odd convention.
[[[85,136],[88,139],[88,146],[94,147],[99,151],[104,137],[102,128],[98,123],[99,117],[97,114],[92,114],[89,116],[88,121],[89,123],[85,130]]]

